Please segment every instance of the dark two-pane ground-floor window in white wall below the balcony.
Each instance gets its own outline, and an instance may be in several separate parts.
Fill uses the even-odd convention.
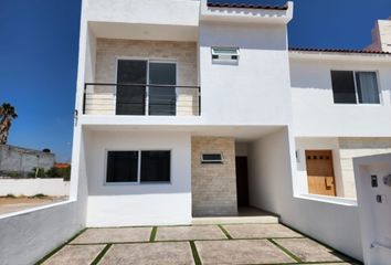
[[[170,182],[171,151],[108,151],[106,182]]]

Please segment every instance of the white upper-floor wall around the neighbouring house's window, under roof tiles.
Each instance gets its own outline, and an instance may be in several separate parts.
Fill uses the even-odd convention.
[[[298,55],[297,55],[298,56]],[[391,62],[368,57],[330,60],[326,55],[290,56],[292,102],[296,137],[388,137],[391,135]],[[317,60],[316,60],[317,59]],[[334,104],[331,70],[374,71],[381,104]]]

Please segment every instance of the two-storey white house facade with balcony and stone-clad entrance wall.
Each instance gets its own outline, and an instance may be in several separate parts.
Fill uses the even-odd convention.
[[[270,172],[292,163],[292,3],[250,14],[207,1],[107,4],[86,1],[82,19],[87,225],[191,223],[263,208],[260,162]],[[277,141],[286,158],[272,161],[264,153]]]

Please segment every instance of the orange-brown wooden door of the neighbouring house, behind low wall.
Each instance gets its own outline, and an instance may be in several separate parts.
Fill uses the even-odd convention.
[[[306,151],[308,192],[320,195],[337,195],[330,150]]]

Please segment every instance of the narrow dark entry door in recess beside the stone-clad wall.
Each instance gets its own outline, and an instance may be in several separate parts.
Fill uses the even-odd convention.
[[[247,158],[236,157],[237,206],[249,206]]]

